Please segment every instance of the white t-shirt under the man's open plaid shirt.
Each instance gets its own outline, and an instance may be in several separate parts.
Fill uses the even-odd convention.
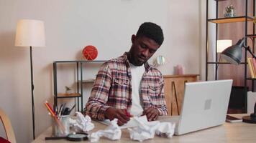
[[[140,102],[140,82],[145,72],[145,66],[134,66],[130,63],[132,73],[132,107],[130,114],[140,116],[143,112],[142,102]]]

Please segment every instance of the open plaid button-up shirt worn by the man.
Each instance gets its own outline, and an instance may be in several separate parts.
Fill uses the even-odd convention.
[[[131,109],[132,106],[132,74],[129,68],[127,53],[116,59],[106,61],[101,68],[91,89],[85,114],[93,119],[105,119],[106,109]],[[142,108],[155,107],[160,115],[167,115],[164,95],[163,76],[156,68],[145,63],[145,73],[140,85]]]

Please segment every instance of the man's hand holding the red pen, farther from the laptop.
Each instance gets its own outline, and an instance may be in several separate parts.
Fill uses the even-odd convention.
[[[110,120],[113,120],[114,118],[118,119],[117,124],[119,126],[122,126],[129,121],[129,117],[125,114],[124,109],[116,109],[113,107],[106,109],[105,117]]]

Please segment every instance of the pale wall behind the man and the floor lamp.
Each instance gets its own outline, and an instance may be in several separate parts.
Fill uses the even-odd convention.
[[[39,135],[50,126],[43,102],[52,103],[52,61],[81,59],[81,50],[88,44],[98,48],[98,60],[120,56],[129,50],[130,38],[140,24],[152,21],[165,34],[155,54],[167,59],[160,67],[163,74],[173,74],[177,64],[185,67],[186,74],[201,74],[204,8],[200,0],[0,0],[0,107],[9,115],[17,141],[32,140],[29,49],[14,46],[19,19],[45,21],[47,46],[33,49]]]

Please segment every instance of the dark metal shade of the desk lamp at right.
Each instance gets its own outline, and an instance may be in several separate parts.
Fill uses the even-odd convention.
[[[222,57],[232,64],[240,64],[242,61],[242,46],[244,45],[244,39],[237,41],[237,44],[229,46],[227,49],[221,52]]]

